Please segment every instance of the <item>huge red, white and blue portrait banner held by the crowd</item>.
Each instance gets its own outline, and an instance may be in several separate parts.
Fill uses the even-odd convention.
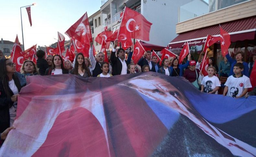
[[[29,76],[0,156],[255,156],[256,96],[184,78]]]

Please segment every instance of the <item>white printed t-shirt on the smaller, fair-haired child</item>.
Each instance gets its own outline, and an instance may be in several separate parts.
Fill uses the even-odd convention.
[[[220,87],[220,81],[217,76],[204,76],[201,84],[204,85],[205,93],[213,91],[215,87]],[[218,94],[218,91],[216,91],[215,94]]]

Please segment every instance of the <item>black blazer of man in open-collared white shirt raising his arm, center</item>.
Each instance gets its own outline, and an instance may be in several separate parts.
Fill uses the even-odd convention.
[[[121,61],[119,60],[119,58],[116,57],[116,52],[112,52],[111,51],[111,55],[110,55],[110,60],[111,60],[111,63],[112,63],[112,75],[120,75],[121,72],[122,72],[122,63]],[[130,64],[130,62],[126,62],[126,65],[128,66],[128,64]]]

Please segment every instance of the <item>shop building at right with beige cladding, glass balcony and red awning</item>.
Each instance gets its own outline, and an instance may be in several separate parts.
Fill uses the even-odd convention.
[[[199,3],[202,4],[200,0],[193,1],[194,6]],[[184,42],[188,41],[190,48],[196,52],[196,59],[204,47],[207,35],[219,36],[221,26],[230,34],[229,54],[233,56],[238,51],[243,52],[244,61],[250,62],[256,54],[256,1],[209,0],[208,6],[205,7],[202,10],[207,9],[207,13],[201,12],[201,15],[193,17],[197,8],[186,10],[186,7],[180,6],[179,22],[176,24],[178,36],[173,38],[169,46],[181,50]],[[217,61],[217,65],[223,60],[220,43],[212,45],[208,51],[209,56],[213,56]]]

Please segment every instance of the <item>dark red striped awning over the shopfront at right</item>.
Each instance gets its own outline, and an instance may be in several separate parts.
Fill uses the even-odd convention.
[[[243,18],[235,21],[230,21],[220,24],[221,28],[230,34],[231,42],[242,40],[253,40],[256,31],[256,16]],[[184,42],[189,42],[190,46],[202,45],[205,42],[207,35],[219,36],[219,24],[200,28],[179,34],[173,39],[169,46],[172,48],[181,48]]]

